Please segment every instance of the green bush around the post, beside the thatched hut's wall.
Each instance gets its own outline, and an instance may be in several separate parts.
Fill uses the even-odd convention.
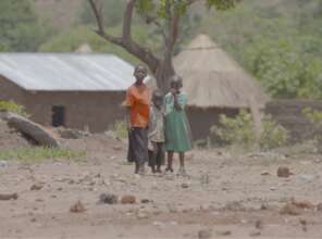
[[[220,126],[213,126],[211,134],[228,144],[240,146],[250,150],[257,147],[269,150],[281,147],[287,142],[287,130],[276,124],[270,115],[264,115],[262,120],[263,130],[257,140],[255,124],[250,113],[240,111],[236,117],[220,115]]]

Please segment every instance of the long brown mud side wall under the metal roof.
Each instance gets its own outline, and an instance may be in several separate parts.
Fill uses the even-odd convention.
[[[125,92],[37,91],[28,92],[25,105],[32,120],[48,126],[52,124],[52,106],[64,106],[65,127],[99,133],[124,118],[124,97]]]

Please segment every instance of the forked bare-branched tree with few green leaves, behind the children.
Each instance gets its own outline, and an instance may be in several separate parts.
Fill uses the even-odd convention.
[[[205,3],[209,9],[226,10],[233,8],[238,0],[126,0],[123,14],[121,36],[112,36],[104,30],[103,3],[101,0],[88,0],[96,17],[96,33],[106,40],[121,46],[145,64],[157,78],[158,87],[166,90],[169,78],[175,74],[172,56],[178,34],[181,18],[187,14],[194,3]],[[150,49],[137,43],[132,37],[133,15],[136,11],[145,20],[145,24],[153,24],[162,36],[164,50],[157,56]]]

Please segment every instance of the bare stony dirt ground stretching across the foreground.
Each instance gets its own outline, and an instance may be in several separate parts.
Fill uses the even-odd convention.
[[[1,239],[322,238],[322,212],[310,206],[322,202],[317,154],[195,150],[187,158],[187,177],[135,177],[122,141],[95,135],[64,144],[87,151],[87,159],[10,161],[0,167],[0,193],[18,194],[0,201]],[[281,165],[293,175],[277,177]],[[35,184],[42,188],[30,190]],[[137,202],[101,204],[101,193],[131,194]],[[308,209],[282,215],[292,198],[309,201],[302,206]],[[78,200],[86,211],[70,212]]]

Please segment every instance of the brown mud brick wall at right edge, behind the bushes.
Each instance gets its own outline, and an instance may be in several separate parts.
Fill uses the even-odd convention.
[[[274,100],[268,103],[265,113],[283,125],[290,134],[292,142],[312,139],[314,127],[302,114],[304,109],[322,111],[322,101],[317,100]]]

